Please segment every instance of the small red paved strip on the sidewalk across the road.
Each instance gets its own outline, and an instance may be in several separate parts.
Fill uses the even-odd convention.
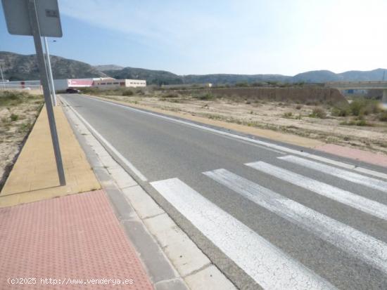
[[[322,145],[322,146],[316,147],[315,149],[323,152],[335,154],[341,157],[356,159],[370,164],[387,166],[387,156],[382,154],[375,154],[372,152],[343,147],[343,146],[334,145],[334,144]]]

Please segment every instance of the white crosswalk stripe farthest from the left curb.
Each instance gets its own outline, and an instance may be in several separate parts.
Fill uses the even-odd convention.
[[[316,171],[320,171],[331,176],[336,176],[338,178],[343,178],[345,180],[351,181],[353,183],[361,184],[367,187],[374,188],[375,190],[381,190],[383,192],[387,192],[387,182],[382,181],[376,178],[371,178],[368,176],[362,176],[359,173],[347,171],[344,169],[338,169],[334,166],[329,166],[325,164],[321,164],[319,162],[313,162],[311,160],[307,160],[304,158],[300,158],[293,155],[288,155],[284,157],[278,157],[279,159],[285,160],[287,162],[291,162],[293,164],[298,164],[301,166],[305,166],[309,169],[313,169]]]

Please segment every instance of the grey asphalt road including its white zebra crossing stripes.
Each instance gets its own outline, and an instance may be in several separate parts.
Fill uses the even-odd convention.
[[[387,289],[386,179],[272,141],[63,97],[146,177],[134,174],[240,288]]]

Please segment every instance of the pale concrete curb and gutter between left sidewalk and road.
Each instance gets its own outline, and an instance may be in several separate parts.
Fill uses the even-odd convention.
[[[62,99],[63,100],[63,99]],[[63,101],[65,114],[156,289],[236,289]]]

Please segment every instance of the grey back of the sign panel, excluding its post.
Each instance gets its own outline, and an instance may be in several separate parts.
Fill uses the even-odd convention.
[[[17,35],[32,35],[28,12],[29,0],[1,0],[8,32]],[[42,37],[62,37],[61,17],[57,0],[36,0],[37,17]]]

